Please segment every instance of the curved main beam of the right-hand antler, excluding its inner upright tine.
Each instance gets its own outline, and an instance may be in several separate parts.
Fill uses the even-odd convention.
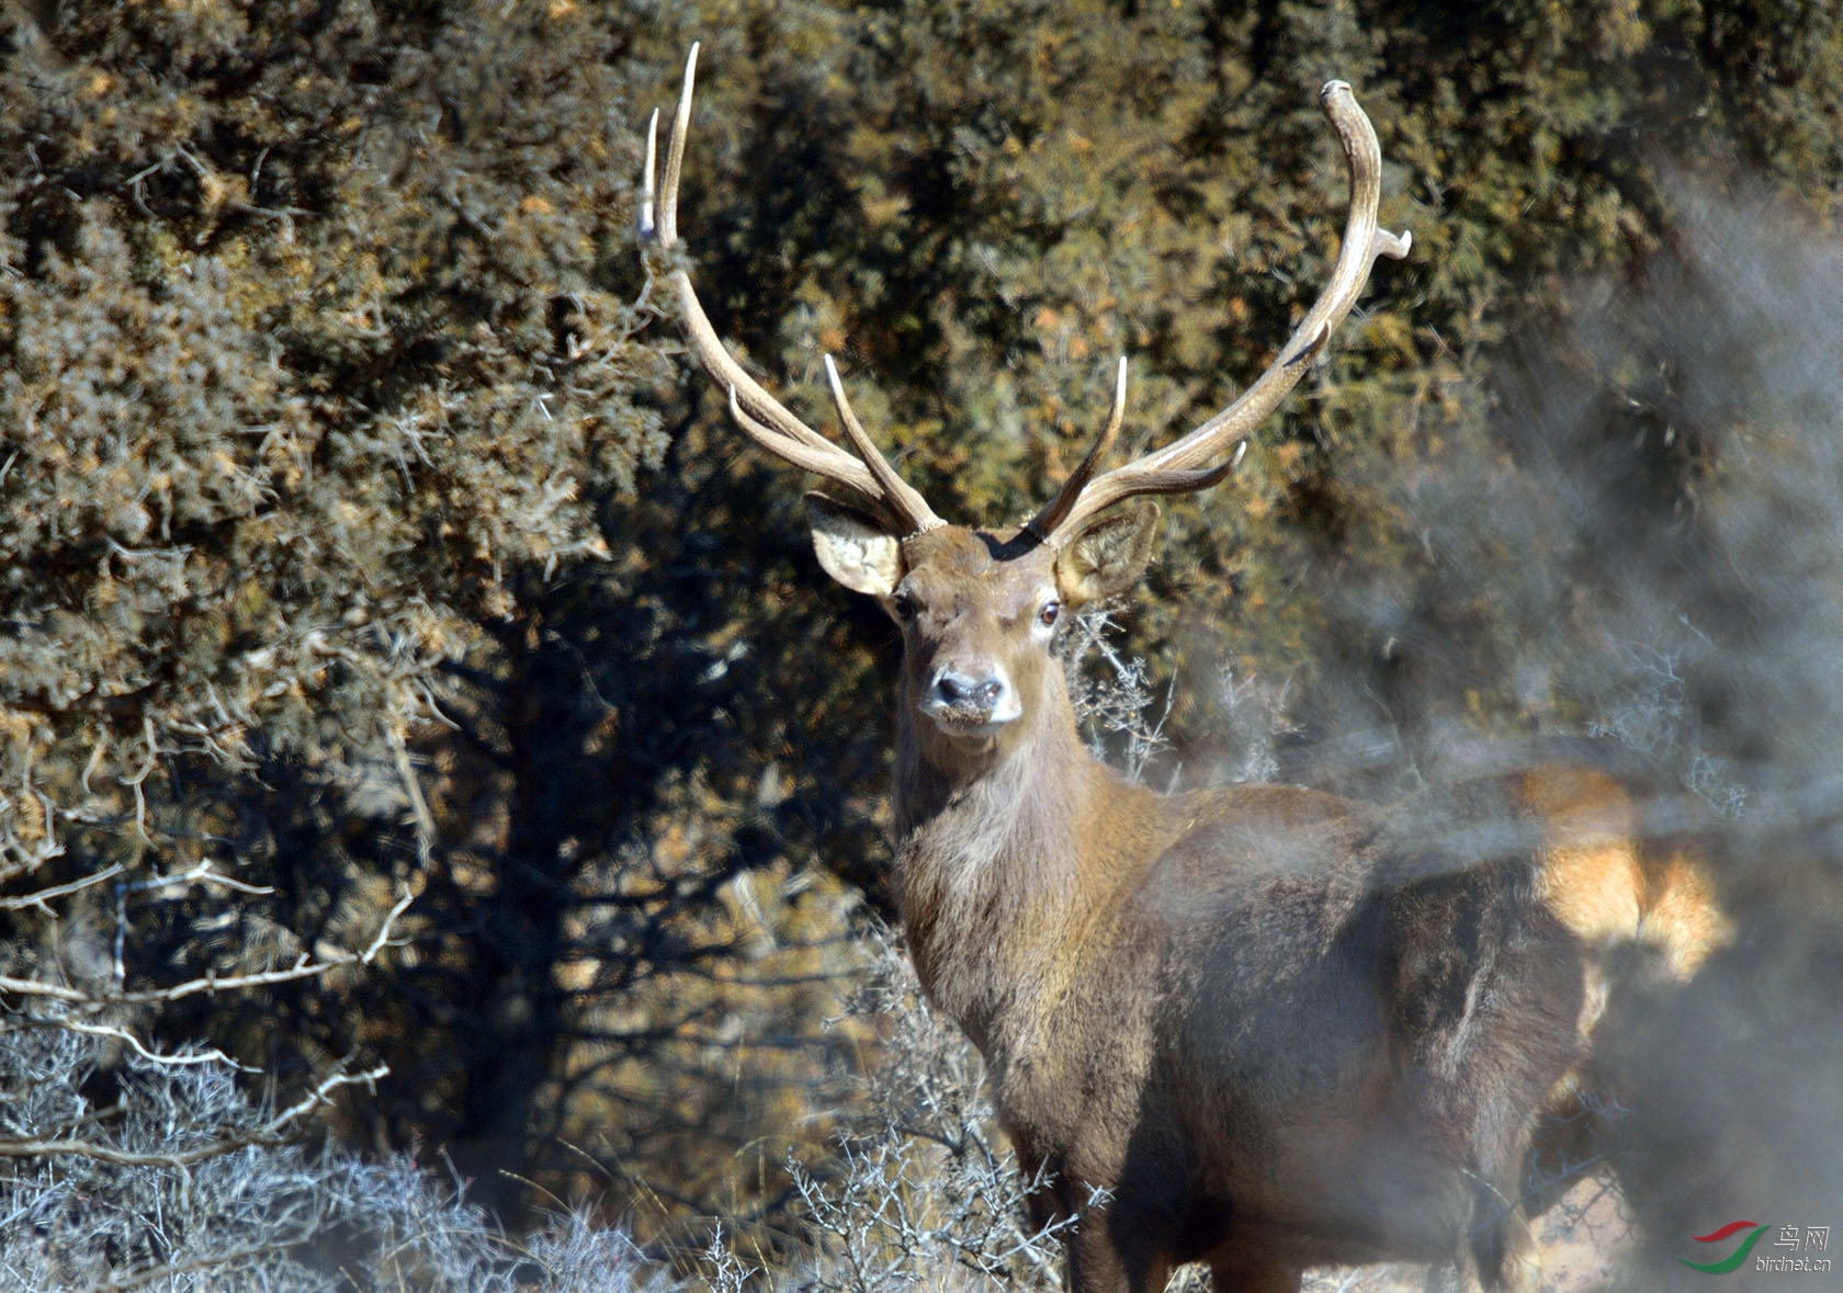
[[[1377,204],[1382,197],[1382,149],[1377,144],[1375,127],[1356,105],[1356,96],[1344,81],[1329,81],[1320,90],[1320,105],[1344,142],[1351,179],[1351,216],[1344,228],[1344,245],[1338,249],[1331,282],[1318,304],[1294,330],[1279,359],[1229,407],[1163,449],[1108,472],[1082,490],[1080,497],[1063,505],[1062,516],[1047,530],[1051,543],[1060,543],[1080,521],[1121,499],[1135,494],[1207,488],[1227,475],[1233,462],[1215,470],[1205,464],[1231,444],[1244,440],[1299,383],[1312,355],[1331,339],[1332,328],[1351,313],[1377,258],[1399,260],[1408,254],[1410,234],[1395,236],[1377,227]],[[1194,484],[1187,484],[1187,481],[1194,481]]]

